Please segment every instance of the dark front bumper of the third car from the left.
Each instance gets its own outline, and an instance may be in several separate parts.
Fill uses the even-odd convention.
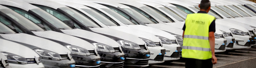
[[[97,64],[97,61],[100,61],[99,55],[81,56],[72,54],[72,57],[76,61],[76,67],[100,67],[100,64]]]

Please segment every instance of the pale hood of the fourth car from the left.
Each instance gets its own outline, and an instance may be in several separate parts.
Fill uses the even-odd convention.
[[[113,48],[119,47],[119,43],[117,43],[113,39],[108,38],[104,35],[90,32],[90,31],[86,31],[82,29],[70,29],[70,30],[61,30],[61,31],[64,32],[65,34],[69,34],[69,35],[89,39],[98,43],[106,44],[106,45],[112,46]]]

